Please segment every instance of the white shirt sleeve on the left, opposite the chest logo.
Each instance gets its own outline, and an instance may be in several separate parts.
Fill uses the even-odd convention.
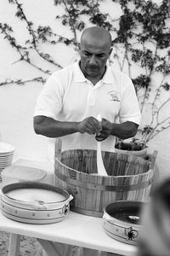
[[[37,97],[34,116],[43,115],[57,119],[62,108],[63,94],[64,89],[61,81],[56,75],[51,75]]]

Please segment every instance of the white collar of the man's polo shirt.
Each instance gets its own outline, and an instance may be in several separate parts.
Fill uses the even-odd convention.
[[[80,63],[80,60],[78,60],[74,64],[73,74],[74,74],[75,82],[81,83],[81,82],[87,81],[87,79],[85,78],[84,74],[82,73],[79,63]],[[105,75],[102,80],[105,84],[112,84],[111,66],[109,65],[108,62],[106,64],[106,71],[105,71]]]

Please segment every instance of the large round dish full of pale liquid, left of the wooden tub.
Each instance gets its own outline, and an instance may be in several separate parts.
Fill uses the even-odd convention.
[[[24,191],[24,192],[23,192]],[[16,193],[34,193],[37,200],[23,201],[16,198]],[[36,195],[36,193],[37,195]],[[11,196],[15,193],[15,197]],[[38,200],[38,193],[45,195],[44,200]],[[51,193],[61,201],[50,201]],[[10,196],[9,196],[10,195]],[[48,199],[48,200],[47,200]],[[3,187],[1,192],[1,211],[3,215],[19,222],[30,224],[56,223],[65,218],[65,214],[70,211],[70,201],[72,196],[65,190],[56,188],[45,183],[11,183]]]

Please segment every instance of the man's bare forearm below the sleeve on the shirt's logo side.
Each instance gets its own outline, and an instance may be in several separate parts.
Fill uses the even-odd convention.
[[[129,137],[134,137],[137,133],[138,126],[137,124],[127,121],[122,124],[111,124],[111,135],[122,138],[122,139],[127,139]]]

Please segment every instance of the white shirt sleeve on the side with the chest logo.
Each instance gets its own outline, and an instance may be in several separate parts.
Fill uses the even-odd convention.
[[[120,123],[131,121],[140,125],[141,113],[139,110],[139,102],[131,80],[126,84],[122,94],[119,119]]]

